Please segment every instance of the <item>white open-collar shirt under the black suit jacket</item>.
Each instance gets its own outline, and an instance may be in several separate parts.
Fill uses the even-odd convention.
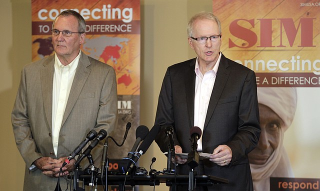
[[[195,61],[194,126],[199,127],[202,132],[220,58],[221,53],[213,68],[205,72],[204,75],[200,71],[198,58]],[[202,133],[197,144],[197,150],[202,151]]]

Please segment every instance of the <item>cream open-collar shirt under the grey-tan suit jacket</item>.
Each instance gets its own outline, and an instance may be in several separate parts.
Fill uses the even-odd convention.
[[[52,144],[55,156],[57,155],[59,131],[69,97],[75,70],[79,62],[81,51],[68,64],[62,65],[57,55],[54,57],[54,74],[52,88]]]

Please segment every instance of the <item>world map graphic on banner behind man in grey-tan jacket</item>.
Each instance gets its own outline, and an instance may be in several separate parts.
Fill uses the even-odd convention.
[[[123,84],[122,86],[125,87],[121,89],[123,94],[135,94],[139,90],[139,83],[136,83],[138,79],[134,79],[135,74],[132,74],[134,68],[130,68],[130,65],[127,64],[121,64],[128,63],[128,42],[130,40],[130,38],[98,36],[86,39],[82,47],[87,55],[100,59],[100,61],[117,69],[118,85]],[[54,53],[51,37],[36,38],[32,43],[37,43],[39,46],[36,48],[39,59]],[[128,86],[131,86],[131,88],[128,88]]]

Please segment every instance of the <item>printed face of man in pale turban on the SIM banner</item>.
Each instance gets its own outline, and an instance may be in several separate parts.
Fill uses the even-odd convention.
[[[293,177],[283,146],[284,132],[290,126],[297,105],[294,87],[258,87],[261,134],[249,154],[255,191],[269,190],[269,177]]]

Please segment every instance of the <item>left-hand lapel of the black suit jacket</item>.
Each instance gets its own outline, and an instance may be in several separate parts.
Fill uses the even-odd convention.
[[[192,59],[190,61],[189,67],[187,67],[184,71],[186,104],[191,127],[194,125],[195,60],[196,58]]]

